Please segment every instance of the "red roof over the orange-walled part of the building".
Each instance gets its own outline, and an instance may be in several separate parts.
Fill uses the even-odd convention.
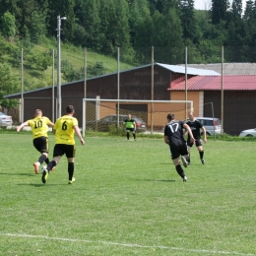
[[[222,76],[195,76],[187,79],[188,91],[216,91],[222,89]],[[256,76],[224,76],[224,91],[255,91]],[[185,80],[174,80],[168,91],[185,91]]]

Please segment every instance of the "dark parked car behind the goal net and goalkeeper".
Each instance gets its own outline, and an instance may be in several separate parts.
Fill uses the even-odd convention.
[[[120,114],[119,115],[119,126],[123,126],[124,120],[127,118],[126,114]],[[136,122],[136,131],[137,132],[146,132],[147,127],[146,123],[137,116],[133,116],[132,118]],[[99,120],[94,120],[94,121],[87,121],[86,126],[87,130],[97,130],[100,132],[106,132],[109,129],[109,125],[117,125],[117,114],[111,114],[107,115]]]

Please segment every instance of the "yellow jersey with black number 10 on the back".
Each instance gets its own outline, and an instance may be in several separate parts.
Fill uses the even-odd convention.
[[[29,125],[32,127],[32,138],[48,137],[48,124],[50,120],[46,116],[35,117],[29,120]]]

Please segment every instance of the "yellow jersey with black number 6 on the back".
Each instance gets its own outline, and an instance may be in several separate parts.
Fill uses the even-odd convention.
[[[55,144],[75,145],[74,126],[78,126],[77,118],[69,115],[58,118],[53,127],[55,130]]]

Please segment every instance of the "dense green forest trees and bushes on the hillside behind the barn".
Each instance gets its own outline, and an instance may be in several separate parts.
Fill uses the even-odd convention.
[[[195,10],[194,0],[0,0],[0,104],[10,106],[4,95],[20,92],[20,78],[9,65],[20,59],[49,73],[51,52],[38,50],[45,38],[56,40],[57,17],[63,43],[115,57],[132,66],[152,61],[166,64],[256,61],[256,1],[212,0],[210,10]],[[37,45],[37,48],[35,47]],[[64,81],[83,79],[84,68],[68,60],[61,63]],[[48,71],[47,71],[48,70]],[[104,74],[98,61],[89,77]],[[36,81],[37,79],[37,81]],[[42,79],[41,79],[42,80]],[[25,81],[26,90],[49,86],[38,76]]]

